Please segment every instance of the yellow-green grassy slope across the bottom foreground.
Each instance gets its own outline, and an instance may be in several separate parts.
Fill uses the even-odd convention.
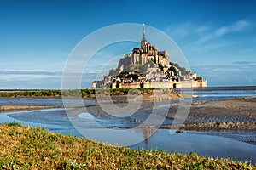
[[[224,159],[130,150],[46,129],[0,125],[0,169],[255,169]]]

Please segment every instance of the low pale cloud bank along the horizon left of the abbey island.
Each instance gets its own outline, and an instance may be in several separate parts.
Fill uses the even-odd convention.
[[[91,82],[95,80],[96,70],[86,70],[84,79],[86,84],[82,84],[85,88],[90,88]],[[0,89],[41,89],[61,88],[62,71],[53,70],[4,70],[0,69]],[[81,72],[69,72],[73,75],[73,79],[78,79]]]

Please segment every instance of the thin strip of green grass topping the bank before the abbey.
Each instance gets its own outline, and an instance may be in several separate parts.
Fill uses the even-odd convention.
[[[118,88],[118,89],[77,89],[77,90],[21,90],[21,91],[7,91],[0,92],[0,97],[61,97],[61,96],[75,96],[82,98],[94,98],[96,94],[104,95],[125,95],[129,91],[136,91],[131,88]],[[153,94],[154,90],[159,88],[137,88],[137,92],[141,94]],[[130,92],[131,93],[131,92]]]

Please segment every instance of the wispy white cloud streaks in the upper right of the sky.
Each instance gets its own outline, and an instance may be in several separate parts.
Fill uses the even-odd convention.
[[[221,39],[228,34],[236,34],[239,32],[247,31],[253,27],[253,22],[250,20],[236,20],[233,23],[223,26],[214,26],[213,22],[196,23],[193,21],[183,22],[179,25],[174,24],[168,26],[165,31],[178,43],[185,40],[183,48],[191,51],[207,51],[216,48],[225,48],[239,43],[236,41],[229,41],[228,39]],[[255,42],[255,38],[252,37]],[[217,42],[218,40],[218,42]]]

